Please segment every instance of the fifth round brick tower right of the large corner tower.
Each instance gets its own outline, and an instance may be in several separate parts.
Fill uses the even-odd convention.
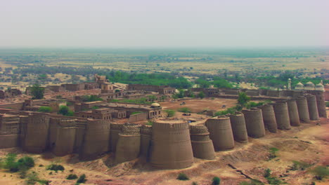
[[[264,126],[269,132],[275,133],[278,130],[278,125],[276,123],[276,114],[274,114],[273,105],[264,104],[258,107],[262,109],[262,116],[264,121]]]

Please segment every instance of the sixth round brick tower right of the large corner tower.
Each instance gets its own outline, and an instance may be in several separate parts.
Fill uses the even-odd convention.
[[[290,120],[287,102],[276,102],[273,104],[274,113],[276,114],[276,124],[280,130],[290,130]]]

